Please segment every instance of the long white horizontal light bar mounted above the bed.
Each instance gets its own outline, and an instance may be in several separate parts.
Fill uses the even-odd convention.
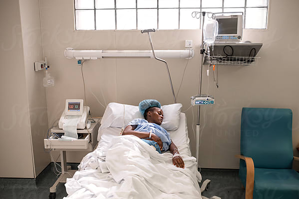
[[[194,50],[155,50],[160,58],[192,59]],[[154,58],[151,50],[74,50],[66,48],[64,56],[68,59],[102,59],[102,58]]]

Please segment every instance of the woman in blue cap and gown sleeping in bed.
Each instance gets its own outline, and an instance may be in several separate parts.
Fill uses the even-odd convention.
[[[139,103],[139,111],[144,119],[133,119],[124,129],[122,135],[135,135],[153,146],[159,153],[167,150],[173,154],[172,163],[185,168],[183,158],[176,145],[169,137],[169,133],[160,125],[163,121],[163,110],[157,100],[143,100]]]

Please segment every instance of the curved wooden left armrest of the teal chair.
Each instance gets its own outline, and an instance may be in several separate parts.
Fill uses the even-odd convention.
[[[255,166],[253,159],[243,155],[235,155],[235,157],[245,160],[247,169],[245,199],[253,199],[253,189],[255,183]]]

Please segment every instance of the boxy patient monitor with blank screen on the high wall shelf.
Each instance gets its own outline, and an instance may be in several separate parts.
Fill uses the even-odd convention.
[[[240,14],[241,13],[241,14]],[[216,42],[235,41],[240,42],[243,34],[243,13],[232,14],[232,12],[216,13],[218,21],[218,33]]]

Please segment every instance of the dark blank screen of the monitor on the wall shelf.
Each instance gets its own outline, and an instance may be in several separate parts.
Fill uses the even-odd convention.
[[[218,18],[218,34],[237,34],[238,18]]]

